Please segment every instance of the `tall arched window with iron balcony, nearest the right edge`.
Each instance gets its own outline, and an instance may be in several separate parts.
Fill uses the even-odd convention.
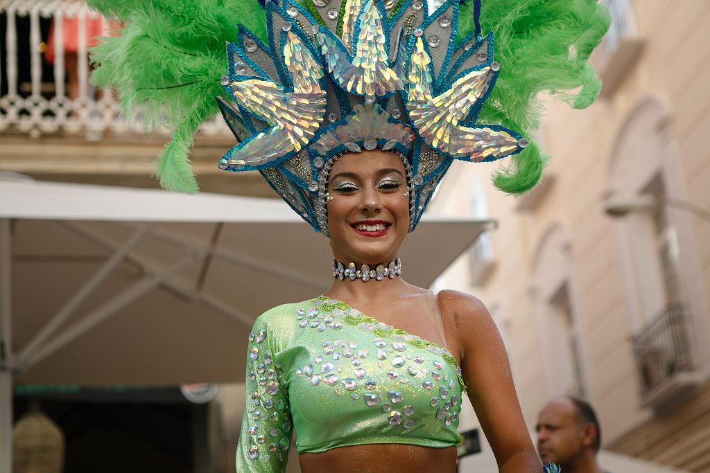
[[[681,165],[667,108],[642,101],[612,148],[607,208],[630,208],[614,226],[645,405],[695,384],[688,375],[710,360],[696,335],[710,327],[692,214],[674,205],[687,202]]]

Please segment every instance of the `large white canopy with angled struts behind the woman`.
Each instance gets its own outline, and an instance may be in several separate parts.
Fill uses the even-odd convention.
[[[403,275],[430,286],[489,225],[426,216]],[[253,321],[331,258],[277,199],[0,180],[2,409],[13,382],[241,382]]]

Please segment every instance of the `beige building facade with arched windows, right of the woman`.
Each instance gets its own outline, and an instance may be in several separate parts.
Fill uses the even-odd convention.
[[[546,99],[542,184],[447,175],[432,211],[500,226],[439,285],[488,306],[531,430],[552,396],[583,396],[605,449],[710,472],[710,2],[607,3],[602,96]]]

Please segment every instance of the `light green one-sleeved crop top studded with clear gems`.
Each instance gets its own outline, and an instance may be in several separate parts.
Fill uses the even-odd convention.
[[[457,360],[344,302],[322,296],[263,313],[247,357],[237,472],[285,471],[293,430],[299,453],[461,440]]]

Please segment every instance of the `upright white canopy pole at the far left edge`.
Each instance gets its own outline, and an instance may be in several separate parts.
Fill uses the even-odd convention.
[[[12,471],[12,331],[10,220],[0,219],[0,472]]]

